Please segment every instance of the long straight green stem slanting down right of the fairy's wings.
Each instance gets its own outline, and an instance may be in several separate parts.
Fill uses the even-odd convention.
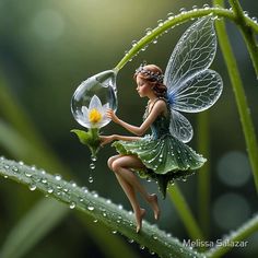
[[[214,4],[222,4],[223,0],[214,0]],[[247,104],[242,79],[238,72],[237,63],[234,58],[230,40],[226,34],[225,24],[222,21],[216,22],[216,31],[221,50],[227,67],[231,83],[235,94],[235,99],[241,117],[241,122],[245,136],[247,152],[249,155],[253,174],[255,178],[256,190],[258,191],[258,146],[254,124],[250,116],[250,109]]]

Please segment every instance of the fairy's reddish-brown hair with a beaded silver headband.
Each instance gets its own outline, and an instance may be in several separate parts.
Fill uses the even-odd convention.
[[[137,77],[149,82],[152,91],[157,97],[165,97],[167,87],[163,84],[163,72],[162,69],[155,64],[141,64],[133,75],[134,80]]]

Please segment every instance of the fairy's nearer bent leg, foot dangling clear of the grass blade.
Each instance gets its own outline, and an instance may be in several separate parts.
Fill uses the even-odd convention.
[[[142,168],[144,165],[134,155],[122,155],[112,163],[113,171],[120,175],[127,183],[134,187],[143,198],[150,203],[153,209],[155,220],[160,218],[160,207],[157,204],[157,197],[155,194],[150,195],[146,192],[145,188],[140,184],[137,176],[130,168]]]

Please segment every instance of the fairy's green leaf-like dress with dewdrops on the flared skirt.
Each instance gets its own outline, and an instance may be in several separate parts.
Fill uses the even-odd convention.
[[[168,108],[169,110],[169,108]],[[148,108],[143,119],[148,117]],[[116,141],[113,146],[124,155],[137,155],[144,168],[136,169],[141,177],[154,179],[163,197],[168,183],[185,180],[207,161],[169,132],[169,116],[160,115],[151,125],[151,134],[134,141]]]

